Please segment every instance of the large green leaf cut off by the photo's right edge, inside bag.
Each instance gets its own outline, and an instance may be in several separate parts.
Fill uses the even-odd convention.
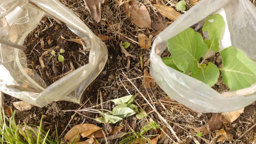
[[[222,79],[230,91],[250,87],[256,83],[256,62],[241,50],[230,46],[220,52]]]

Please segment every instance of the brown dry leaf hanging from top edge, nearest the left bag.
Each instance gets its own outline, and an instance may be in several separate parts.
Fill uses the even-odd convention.
[[[92,19],[100,22],[101,19],[101,3],[104,0],[84,0],[87,10],[90,12]]]

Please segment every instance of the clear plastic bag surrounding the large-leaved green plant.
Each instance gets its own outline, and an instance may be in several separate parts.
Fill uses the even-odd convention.
[[[203,82],[166,66],[160,57],[168,39],[216,11],[226,21],[220,50],[232,45],[256,60],[256,7],[248,0],[201,0],[156,37],[150,54],[150,74],[156,83],[173,100],[198,112],[235,111],[256,100],[255,94],[224,97]]]

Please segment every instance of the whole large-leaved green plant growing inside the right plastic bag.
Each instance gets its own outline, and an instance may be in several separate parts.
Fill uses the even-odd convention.
[[[222,72],[222,79],[230,91],[250,87],[256,83],[256,62],[233,46],[220,52],[219,40],[224,28],[225,21],[220,14],[214,14],[205,20],[202,30],[204,34],[209,36],[205,36],[207,38],[204,40],[192,28],[187,28],[167,40],[167,47],[172,57],[164,57],[163,62],[210,87],[217,83],[220,71]],[[217,68],[211,62],[208,65],[204,64],[211,50],[220,52],[223,68]],[[204,55],[206,56],[199,63]]]

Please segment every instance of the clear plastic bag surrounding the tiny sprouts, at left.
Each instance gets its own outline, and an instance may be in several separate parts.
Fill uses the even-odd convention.
[[[22,45],[44,14],[63,22],[76,35],[83,37],[91,49],[89,63],[47,86],[36,72],[27,68],[23,51],[0,44],[0,90],[38,107],[59,100],[80,103],[86,87],[104,68],[108,50],[74,12],[58,0],[1,0],[0,38]],[[15,88],[24,85],[30,90]]]

